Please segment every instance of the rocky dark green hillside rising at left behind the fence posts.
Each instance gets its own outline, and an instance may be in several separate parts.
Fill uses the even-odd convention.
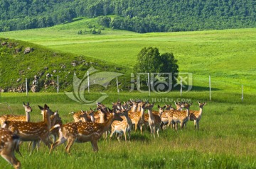
[[[60,91],[73,91],[74,74],[85,81],[87,70],[119,72],[120,87],[128,86],[124,78],[128,68],[102,62],[82,54],[55,52],[41,45],[0,38],[0,89],[1,91],[26,92],[26,78],[29,91],[57,91],[58,76]],[[107,77],[103,77],[107,78]],[[129,81],[129,80],[128,80]],[[93,83],[93,82],[90,82]],[[110,86],[115,86],[115,81]],[[93,87],[92,87],[93,88]],[[101,90],[102,86],[94,86]]]

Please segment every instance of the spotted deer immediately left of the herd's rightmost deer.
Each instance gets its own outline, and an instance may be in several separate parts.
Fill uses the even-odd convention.
[[[186,108],[186,110],[181,110],[181,111],[174,111],[172,114],[171,122],[175,124],[175,129],[178,129],[178,123],[181,125],[181,129],[183,129],[184,125],[186,122],[188,122],[190,118],[190,111],[189,107],[192,105],[189,103],[184,103],[183,107]]]

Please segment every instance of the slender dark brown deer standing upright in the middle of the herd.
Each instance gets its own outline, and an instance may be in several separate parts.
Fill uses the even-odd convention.
[[[160,128],[160,124],[161,124],[161,117],[159,115],[156,115],[153,113],[153,107],[154,107],[154,103],[153,104],[146,104],[144,105],[142,108],[145,110],[148,110],[149,113],[149,127],[150,127],[150,133],[154,134],[154,138],[156,138],[155,136],[155,132],[157,134],[157,136],[159,137],[159,128]],[[161,109],[161,108],[159,108]],[[162,113],[163,109],[161,109],[161,113]]]

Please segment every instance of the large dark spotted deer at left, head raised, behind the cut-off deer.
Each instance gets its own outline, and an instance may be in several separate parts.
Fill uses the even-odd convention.
[[[6,121],[4,127],[9,129],[14,134],[17,134],[21,141],[43,141],[46,146],[50,148],[48,136],[50,134],[50,115],[47,111],[47,105],[44,106],[44,120],[43,122],[17,122]],[[31,149],[31,153],[35,147]]]

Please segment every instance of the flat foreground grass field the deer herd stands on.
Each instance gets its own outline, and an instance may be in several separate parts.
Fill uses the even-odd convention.
[[[218,93],[216,93],[218,94]],[[90,93],[88,99],[97,93]],[[157,105],[173,100],[181,100],[178,92],[157,95],[152,93],[109,93],[104,104],[111,106],[117,99],[145,98]],[[186,129],[166,129],[159,132],[159,138],[150,136],[149,130],[142,136],[132,132],[131,143],[119,143],[115,136],[112,140],[99,141],[100,151],[94,153],[90,143],[77,144],[71,148],[71,154],[65,153],[64,144],[58,146],[52,154],[41,144],[39,151],[29,155],[28,143],[21,146],[23,157],[16,155],[23,168],[256,168],[255,147],[255,97],[251,102],[227,100],[230,95],[219,95],[214,101],[208,101],[208,93],[191,92],[184,94],[183,100],[193,102],[191,110],[198,110],[197,100],[206,101],[200,130],[195,131],[193,122]],[[23,115],[22,102],[30,102],[33,112],[31,120],[42,119],[37,105],[47,103],[51,110],[58,110],[63,123],[72,122],[71,111],[89,110],[96,105],[81,105],[70,100],[64,93],[1,93],[1,114],[16,113]],[[4,103],[8,103],[4,104]],[[173,104],[174,105],[174,104]],[[156,106],[154,107],[156,110]],[[0,158],[0,168],[11,168]]]

